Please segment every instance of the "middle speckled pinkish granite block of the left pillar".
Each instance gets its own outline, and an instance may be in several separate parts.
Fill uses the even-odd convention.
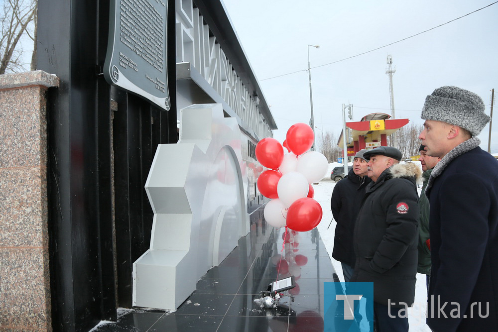
[[[46,246],[46,167],[0,168],[0,210],[0,247]]]

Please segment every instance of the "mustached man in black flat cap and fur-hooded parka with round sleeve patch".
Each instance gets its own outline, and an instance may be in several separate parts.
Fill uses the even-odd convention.
[[[400,164],[401,152],[380,146],[364,153],[365,199],[355,226],[352,282],[373,282],[376,331],[408,331],[408,307],[415,299],[418,240],[417,181],[421,170]]]

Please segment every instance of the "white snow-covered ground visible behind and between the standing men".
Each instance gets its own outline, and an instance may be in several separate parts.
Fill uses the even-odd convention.
[[[333,163],[336,164],[336,163]],[[332,168],[338,166],[330,166],[330,171]],[[339,164],[341,166],[343,164]],[[331,168],[332,167],[332,168]],[[322,238],[327,252],[329,253],[330,259],[332,260],[332,265],[336,270],[339,280],[344,282],[344,276],[342,273],[341,263],[332,258],[332,248],[334,246],[334,230],[336,222],[332,221],[332,211],[330,210],[330,197],[332,196],[332,191],[334,190],[335,182],[330,180],[330,172],[326,177],[323,178],[317,185],[313,185],[315,190],[314,199],[320,203],[323,210],[322,221],[318,224],[318,231]],[[418,189],[420,193],[420,189]],[[332,221],[332,223],[330,222]],[[330,227],[329,227],[330,224]],[[327,229],[328,228],[328,229]],[[408,308],[408,321],[410,325],[410,332],[430,332],[431,330],[425,324],[425,310],[427,301],[427,288],[426,288],[426,276],[425,274],[417,273],[417,283],[415,288],[415,304],[412,308]]]

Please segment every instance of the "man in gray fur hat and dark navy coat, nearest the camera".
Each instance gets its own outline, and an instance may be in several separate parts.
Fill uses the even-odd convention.
[[[490,116],[457,87],[427,96],[419,138],[442,158],[425,190],[430,202],[433,331],[498,331],[498,162],[480,147]]]

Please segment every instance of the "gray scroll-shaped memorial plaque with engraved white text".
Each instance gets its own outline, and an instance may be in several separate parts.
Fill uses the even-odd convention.
[[[169,110],[168,0],[111,0],[104,76],[109,84]]]

